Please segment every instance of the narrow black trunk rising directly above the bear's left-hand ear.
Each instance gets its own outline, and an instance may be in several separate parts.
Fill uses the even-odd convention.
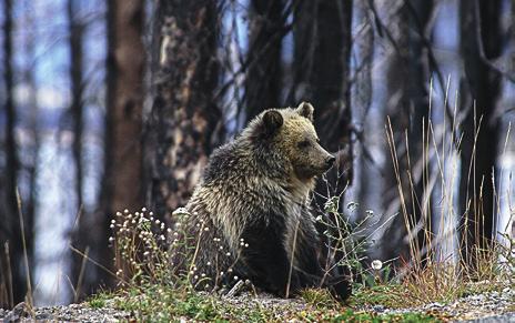
[[[283,0],[252,0],[249,13],[250,68],[245,78],[246,120],[279,107],[282,89]]]

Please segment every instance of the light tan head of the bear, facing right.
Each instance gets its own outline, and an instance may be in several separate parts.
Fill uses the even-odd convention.
[[[302,102],[295,109],[266,110],[258,119],[262,140],[272,142],[274,149],[287,158],[301,181],[321,175],[336,160],[320,145],[313,125],[313,105]]]

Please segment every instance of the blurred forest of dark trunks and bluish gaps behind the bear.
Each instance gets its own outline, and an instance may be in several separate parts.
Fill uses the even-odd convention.
[[[353,221],[371,218],[371,259],[402,260],[433,230],[443,259],[466,261],[458,241],[486,248],[511,230],[513,0],[0,8],[2,306],[27,291],[55,304],[111,284],[114,212],[184,205],[214,148],[263,109],[304,100],[340,155],[332,193],[343,191],[345,212],[359,203]],[[478,230],[463,225],[478,212]]]

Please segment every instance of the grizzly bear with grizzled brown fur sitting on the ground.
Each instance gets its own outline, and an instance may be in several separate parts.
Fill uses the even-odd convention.
[[[265,110],[210,157],[181,221],[195,236],[186,270],[196,285],[250,280],[281,296],[327,286],[310,193],[335,157],[320,145],[313,110]],[[347,282],[333,279],[332,292],[345,299]]]

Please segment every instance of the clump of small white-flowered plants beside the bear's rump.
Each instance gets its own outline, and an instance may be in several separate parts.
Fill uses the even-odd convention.
[[[180,208],[163,221],[145,208],[138,212],[117,212],[110,223],[114,249],[114,263],[120,283],[141,285],[144,283],[173,284],[188,282],[195,287],[212,290],[236,282],[233,265],[240,254],[233,254],[228,243],[202,219],[193,219],[186,209]],[[196,224],[191,224],[196,223]],[[215,256],[198,265],[198,243],[210,239]],[[241,250],[249,248],[239,240]],[[228,259],[232,260],[228,262]],[[202,260],[204,261],[204,260]]]

